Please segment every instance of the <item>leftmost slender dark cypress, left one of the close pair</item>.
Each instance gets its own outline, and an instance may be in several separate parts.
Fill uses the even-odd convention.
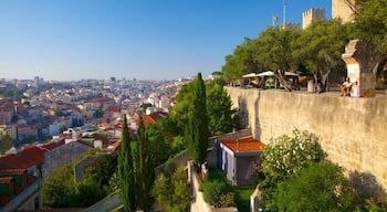
[[[124,203],[125,211],[134,212],[136,210],[136,189],[133,168],[133,156],[130,148],[129,131],[127,119],[124,117],[121,150],[118,153],[118,187],[119,198]]]

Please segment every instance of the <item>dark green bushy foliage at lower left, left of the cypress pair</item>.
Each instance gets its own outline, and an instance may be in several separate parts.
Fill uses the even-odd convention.
[[[90,156],[85,152],[83,157]],[[103,199],[112,190],[109,179],[116,169],[116,156],[100,156],[87,167],[81,182],[75,183],[73,165],[55,169],[43,183],[46,208],[85,208]]]

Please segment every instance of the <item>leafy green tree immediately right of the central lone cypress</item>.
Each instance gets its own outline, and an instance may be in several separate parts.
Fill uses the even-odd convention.
[[[207,85],[206,92],[209,135],[219,136],[231,132],[234,128],[234,121],[231,109],[232,102],[229,94],[219,84]]]

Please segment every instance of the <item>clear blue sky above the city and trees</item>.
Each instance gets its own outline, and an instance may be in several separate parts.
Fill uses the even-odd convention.
[[[331,0],[286,0],[286,22]],[[0,78],[177,80],[220,71],[283,0],[0,0]]]

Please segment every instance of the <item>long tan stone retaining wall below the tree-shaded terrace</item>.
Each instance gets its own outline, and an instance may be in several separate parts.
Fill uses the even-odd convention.
[[[227,87],[233,106],[264,144],[294,128],[321,137],[328,159],[365,189],[387,188],[387,98]],[[381,187],[383,188],[381,188]]]

